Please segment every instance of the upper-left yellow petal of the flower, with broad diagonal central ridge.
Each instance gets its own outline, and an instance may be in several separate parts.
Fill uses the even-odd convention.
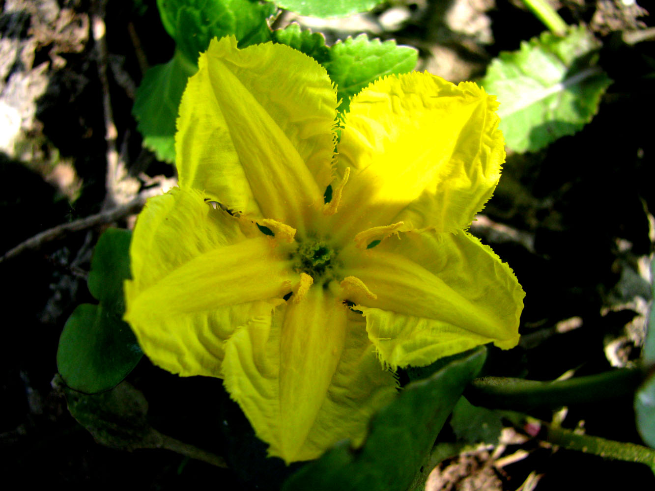
[[[336,92],[312,58],[284,45],[213,40],[184,92],[181,187],[228,208],[299,224],[331,180]]]

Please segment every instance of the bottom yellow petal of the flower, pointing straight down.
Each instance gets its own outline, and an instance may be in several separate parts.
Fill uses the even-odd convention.
[[[252,319],[227,342],[225,386],[271,456],[290,463],[341,439],[360,443],[371,414],[394,397],[394,377],[356,317],[314,287],[272,322]]]

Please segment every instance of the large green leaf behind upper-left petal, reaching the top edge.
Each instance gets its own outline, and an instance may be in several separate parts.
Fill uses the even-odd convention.
[[[145,73],[132,114],[143,146],[172,164],[179,101],[198,70],[198,55],[214,37],[234,35],[240,47],[271,41],[266,20],[276,7],[257,0],[157,0],[157,6],[164,28],[176,41],[176,52],[168,63]]]

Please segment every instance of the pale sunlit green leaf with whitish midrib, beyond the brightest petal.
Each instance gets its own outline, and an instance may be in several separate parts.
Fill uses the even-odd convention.
[[[538,151],[591,120],[612,82],[596,64],[599,46],[584,27],[572,27],[566,37],[544,32],[491,62],[481,84],[498,96],[510,149]]]

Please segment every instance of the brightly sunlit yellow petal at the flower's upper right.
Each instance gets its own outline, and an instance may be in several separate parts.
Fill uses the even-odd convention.
[[[504,162],[493,96],[430,73],[385,77],[350,102],[339,172],[344,236],[403,221],[453,232],[491,197]]]

